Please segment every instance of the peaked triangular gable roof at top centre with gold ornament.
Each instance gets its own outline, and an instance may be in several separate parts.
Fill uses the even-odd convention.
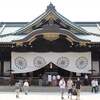
[[[84,30],[80,26],[76,25],[75,23],[71,22],[70,20],[68,20],[67,18],[62,16],[60,13],[58,13],[56,11],[55,7],[53,6],[53,4],[51,4],[51,3],[49,4],[49,6],[47,6],[47,9],[44,13],[42,13],[39,17],[34,19],[32,22],[28,23],[25,27],[22,27],[19,30],[17,30],[16,34],[25,33],[28,29],[32,29],[33,26],[37,26],[37,27],[39,27],[39,25],[41,26],[43,23],[43,20],[50,21],[51,19],[53,21],[59,19],[60,24],[63,25],[65,28],[66,28],[66,26],[69,26],[72,29],[74,29],[82,34],[89,34],[86,30]],[[30,30],[30,32],[31,31],[33,31],[33,30]]]

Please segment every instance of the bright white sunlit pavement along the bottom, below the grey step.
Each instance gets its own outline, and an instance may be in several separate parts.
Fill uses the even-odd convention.
[[[81,92],[80,100],[99,100],[100,93]],[[20,93],[16,98],[15,92],[0,92],[0,100],[61,100],[60,92],[30,92],[28,95]],[[64,100],[69,100],[67,93],[64,94]],[[72,98],[75,100],[75,97]]]

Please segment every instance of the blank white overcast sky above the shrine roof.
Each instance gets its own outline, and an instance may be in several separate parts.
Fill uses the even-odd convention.
[[[100,21],[100,0],[0,0],[0,22],[30,22],[50,2],[73,22]]]

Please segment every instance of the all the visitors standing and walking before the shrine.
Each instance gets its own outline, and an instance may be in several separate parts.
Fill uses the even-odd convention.
[[[60,75],[48,75],[48,86],[59,86],[61,91],[61,99],[64,99],[64,93],[68,91],[68,99],[72,100],[72,97],[75,96],[76,100],[80,100],[80,89],[81,86],[91,85],[91,92],[97,93],[99,91],[99,82],[96,78],[92,78],[91,81],[88,78],[88,75],[85,75],[84,80],[81,80],[79,77],[77,79],[64,79]],[[25,95],[29,91],[29,82],[28,80],[19,80],[15,83],[16,87],[16,98],[19,98],[19,93],[24,92]]]

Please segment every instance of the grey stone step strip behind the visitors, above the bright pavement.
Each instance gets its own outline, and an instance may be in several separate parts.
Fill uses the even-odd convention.
[[[58,92],[59,87],[42,87],[42,86],[30,86],[31,92]],[[0,92],[13,92],[15,91],[15,86],[0,86]],[[90,86],[82,86],[81,91],[90,92]]]

